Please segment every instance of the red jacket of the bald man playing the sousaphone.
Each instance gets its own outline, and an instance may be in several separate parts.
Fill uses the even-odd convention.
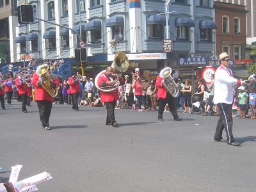
[[[103,82],[107,82],[110,81],[110,79],[106,76],[106,72],[104,72],[101,76],[99,76],[98,79],[98,86],[102,86]],[[119,95],[118,95],[118,89],[114,90],[113,92],[102,92],[100,91],[100,99],[103,102],[112,102],[114,100],[118,100],[119,99]]]

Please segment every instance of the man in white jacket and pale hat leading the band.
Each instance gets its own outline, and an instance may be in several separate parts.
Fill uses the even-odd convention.
[[[230,70],[230,58],[227,52],[220,54],[220,67],[215,73],[214,83],[214,104],[217,104],[220,109],[220,118],[216,127],[214,141],[224,141],[228,145],[239,146],[232,134],[232,103],[234,98],[234,86],[240,85],[241,80],[235,79]],[[225,129],[227,133],[227,140],[223,140],[222,131]]]

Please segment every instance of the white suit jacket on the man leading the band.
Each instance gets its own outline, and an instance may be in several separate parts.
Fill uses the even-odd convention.
[[[233,77],[232,70],[220,65],[215,72],[214,104],[232,104],[236,84],[241,84],[241,81]]]

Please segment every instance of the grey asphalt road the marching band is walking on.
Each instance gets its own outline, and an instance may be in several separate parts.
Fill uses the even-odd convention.
[[[35,103],[0,111],[1,182],[22,164],[19,180],[47,171],[39,191],[254,191],[256,121],[234,119],[242,147],[213,141],[216,116],[116,109],[121,125],[105,125],[106,109],[54,104],[52,131],[40,125]],[[225,132],[223,132],[225,138]]]

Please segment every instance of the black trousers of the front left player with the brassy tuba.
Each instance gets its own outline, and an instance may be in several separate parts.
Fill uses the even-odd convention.
[[[37,100],[37,106],[39,109],[39,117],[42,122],[42,126],[49,126],[49,118],[52,111],[52,102],[49,100]]]

